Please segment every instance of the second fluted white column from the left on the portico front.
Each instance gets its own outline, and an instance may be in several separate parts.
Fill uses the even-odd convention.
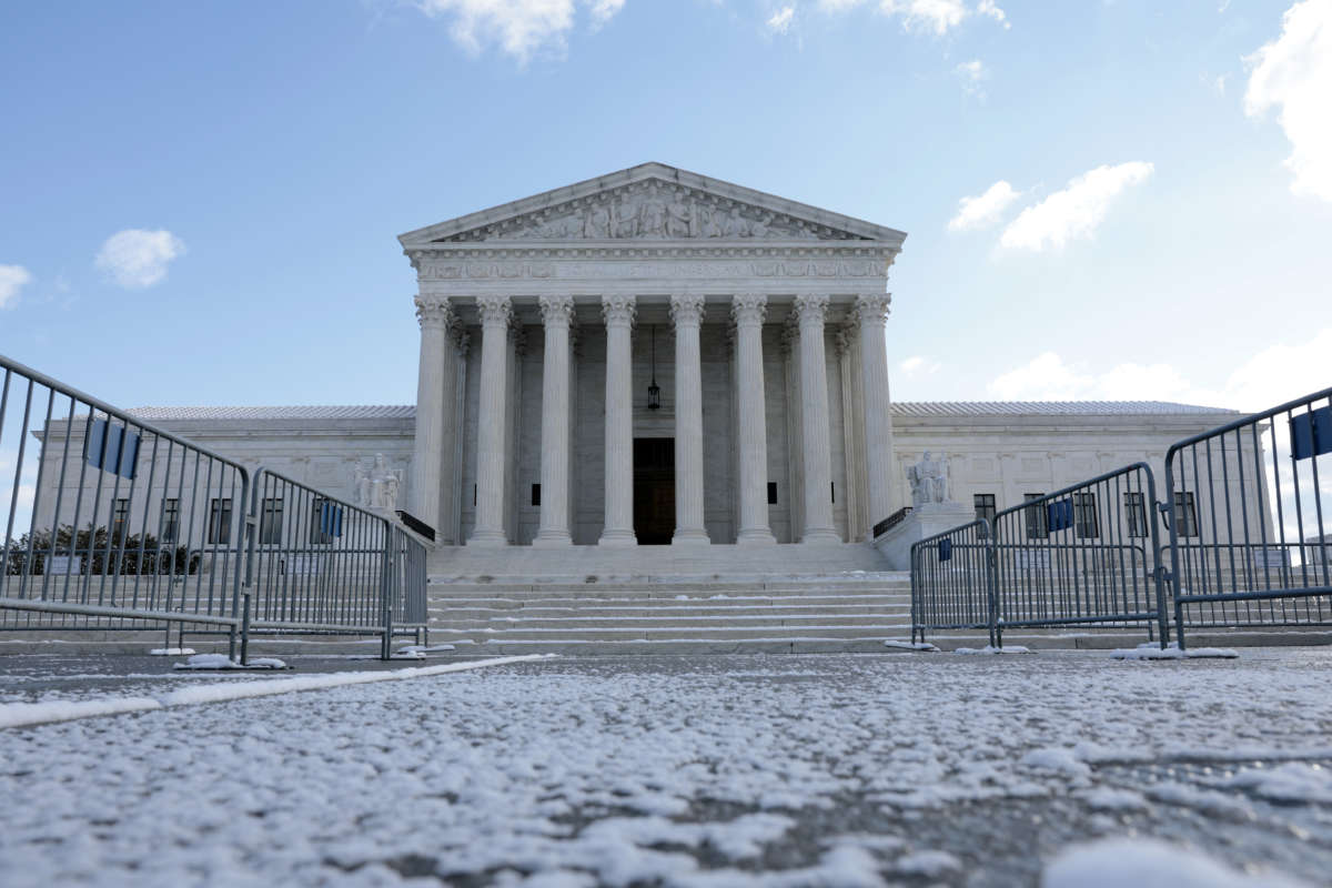
[[[509,426],[507,296],[478,296],[481,314],[481,403],[477,409],[477,525],[469,546],[507,546],[503,530],[505,434]]]

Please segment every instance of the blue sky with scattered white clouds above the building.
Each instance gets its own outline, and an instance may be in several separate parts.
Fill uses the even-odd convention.
[[[906,230],[898,399],[1257,409],[1332,385],[1329,96],[1332,0],[11,4],[0,353],[409,403],[397,234],[655,160]]]

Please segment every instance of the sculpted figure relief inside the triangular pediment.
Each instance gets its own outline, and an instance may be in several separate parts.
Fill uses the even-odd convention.
[[[442,240],[472,242],[709,238],[862,240],[827,225],[657,180],[575,198]]]

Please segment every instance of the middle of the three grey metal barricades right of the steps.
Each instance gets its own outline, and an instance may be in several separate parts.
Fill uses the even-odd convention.
[[[1034,497],[994,517],[999,640],[1015,627],[1146,624],[1169,634],[1146,463]]]

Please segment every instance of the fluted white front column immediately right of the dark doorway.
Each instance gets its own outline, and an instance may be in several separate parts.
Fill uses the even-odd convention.
[[[698,329],[702,296],[670,297],[675,324],[675,535],[671,543],[710,543],[703,526],[703,366]]]

